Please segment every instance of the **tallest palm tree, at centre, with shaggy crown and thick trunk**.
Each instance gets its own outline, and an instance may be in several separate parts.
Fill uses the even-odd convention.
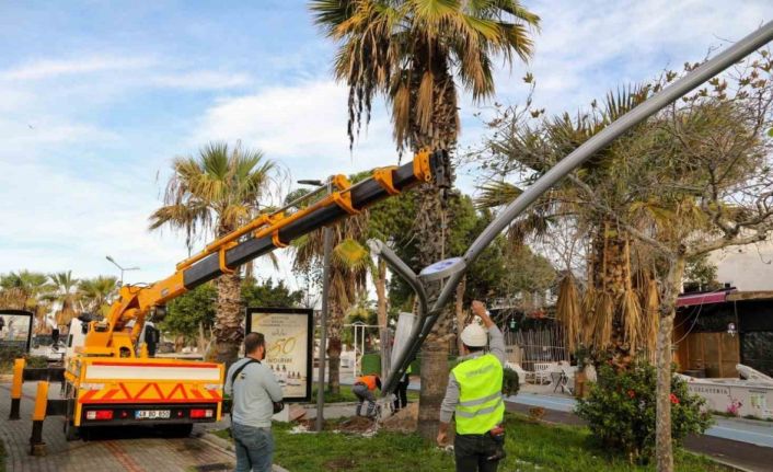
[[[397,148],[453,150],[459,135],[457,82],[473,99],[494,94],[495,58],[512,64],[532,53],[539,16],[517,0],[314,0],[314,20],[341,43],[335,77],[349,88],[349,139],[370,118],[372,99],[391,105]],[[454,81],[454,78],[457,81]],[[448,229],[436,188],[420,191],[418,263],[445,255]],[[438,228],[442,228],[438,231]],[[431,439],[448,376],[448,311],[423,349],[419,431]]]

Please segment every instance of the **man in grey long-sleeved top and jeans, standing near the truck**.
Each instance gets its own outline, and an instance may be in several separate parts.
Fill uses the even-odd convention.
[[[244,337],[245,358],[231,366],[226,393],[231,395],[231,434],[236,449],[236,472],[269,472],[274,453],[272,416],[281,401],[281,388],[274,372],[261,364],[266,339],[261,333]]]

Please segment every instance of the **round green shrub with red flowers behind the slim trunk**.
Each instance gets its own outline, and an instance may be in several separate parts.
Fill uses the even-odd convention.
[[[605,447],[646,463],[655,452],[656,370],[637,361],[616,372],[610,365],[598,370],[598,382],[587,399],[580,399],[576,413]],[[689,434],[701,434],[711,426],[705,401],[688,392],[688,384],[671,378],[671,437],[677,446]]]

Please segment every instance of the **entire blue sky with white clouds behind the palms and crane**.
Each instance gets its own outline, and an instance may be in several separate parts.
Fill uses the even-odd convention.
[[[489,102],[462,95],[462,147],[485,134],[476,113],[523,102],[527,71],[538,107],[575,111],[773,20],[770,0],[522,4],[542,18],[534,57],[500,67]],[[172,159],[212,140],[263,150],[286,184],[395,164],[380,102],[349,151],[335,49],[304,1],[0,1],[0,273],[118,276],[111,255],[140,267],[128,283],[171,275],[184,235],[148,217]],[[259,274],[296,287],[289,261]]]

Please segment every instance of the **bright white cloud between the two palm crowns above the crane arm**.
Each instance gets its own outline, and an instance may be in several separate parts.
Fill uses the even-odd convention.
[[[346,97],[344,87],[323,79],[224,99],[205,113],[192,142],[241,139],[281,160],[299,176],[393,164],[397,153],[381,104],[373,105],[368,129],[349,152]]]

